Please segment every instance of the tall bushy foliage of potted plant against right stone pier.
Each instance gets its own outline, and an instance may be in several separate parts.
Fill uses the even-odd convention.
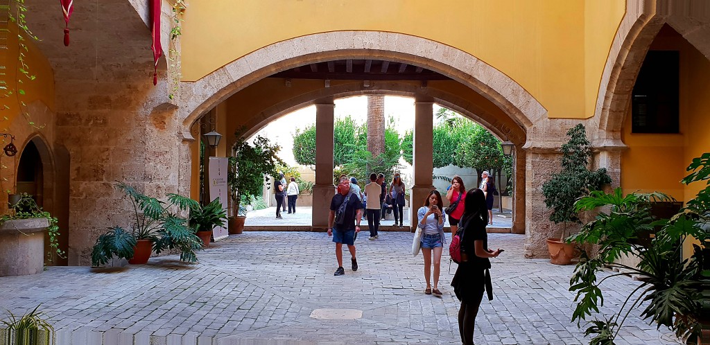
[[[588,168],[591,147],[584,125],[577,124],[570,128],[567,136],[569,141],[562,145],[562,171],[552,174],[550,180],[542,184],[545,205],[552,209],[550,220],[555,224],[564,223],[561,238],[566,237],[564,232],[567,231],[567,223],[579,223],[579,211],[574,208],[574,202],[611,183],[606,168],[596,171]]]

